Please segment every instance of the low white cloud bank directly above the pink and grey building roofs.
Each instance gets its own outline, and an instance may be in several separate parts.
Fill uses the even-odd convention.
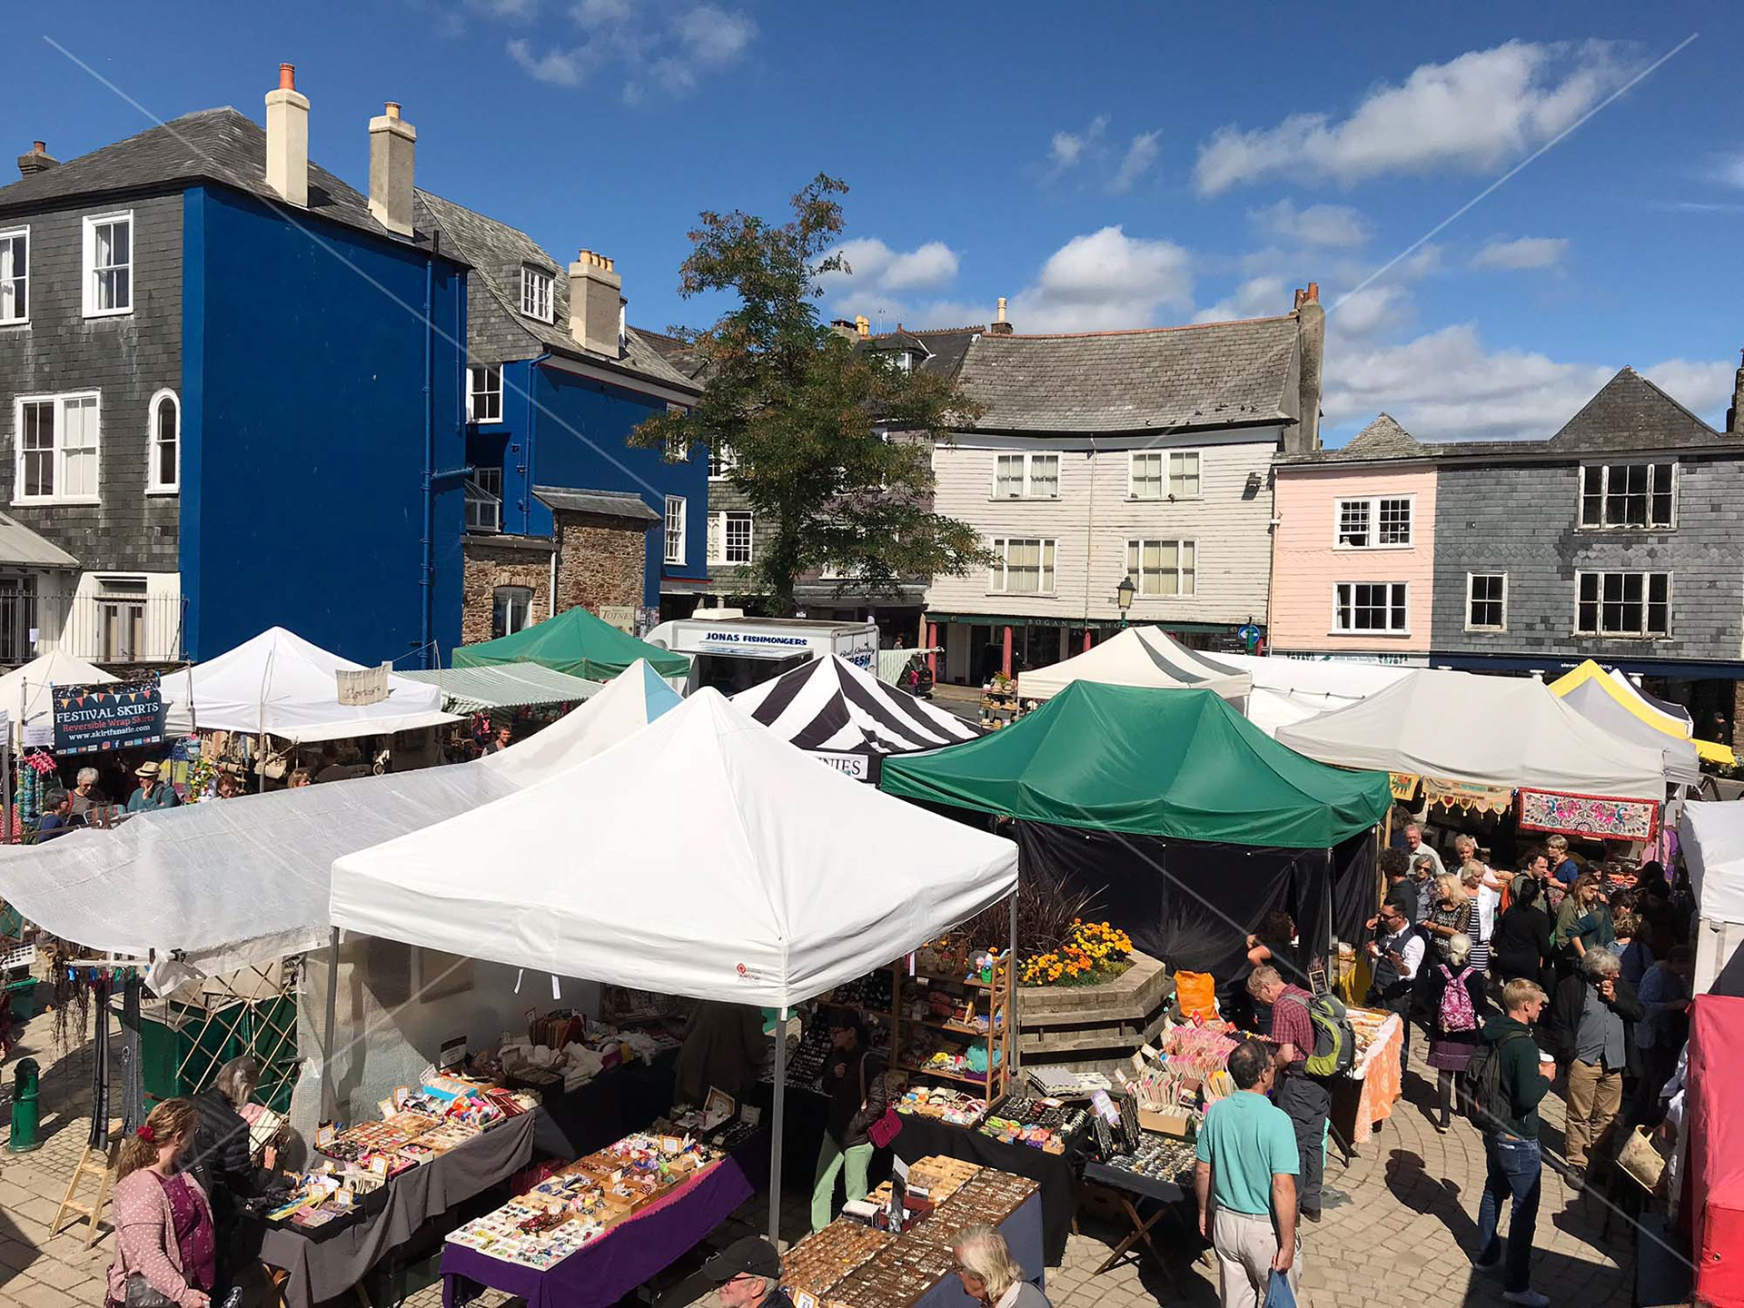
[[[1327,426],[1386,410],[1423,439],[1543,439],[1592,399],[1617,368],[1559,363],[1536,351],[1491,351],[1472,323],[1402,345],[1327,349]],[[1672,359],[1643,375],[1709,422],[1730,394],[1727,363]]]

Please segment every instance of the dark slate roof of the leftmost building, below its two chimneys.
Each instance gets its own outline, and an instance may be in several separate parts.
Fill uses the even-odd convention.
[[[183,113],[138,136],[0,187],[0,213],[40,209],[85,195],[160,192],[202,181],[216,181],[284,204],[279,192],[267,185],[267,129],[241,110],[225,106]],[[375,221],[366,195],[312,160],[309,208],[288,208],[293,213],[312,213],[356,227],[370,235],[405,241]],[[426,242],[417,239],[415,244]]]

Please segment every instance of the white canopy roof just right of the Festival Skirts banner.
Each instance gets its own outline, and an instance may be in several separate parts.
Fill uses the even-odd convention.
[[[361,663],[272,626],[218,657],[164,677],[169,727],[267,732],[312,743],[385,736],[455,720],[441,712],[438,687],[392,673],[387,677],[387,699],[340,705],[333,673],[363,670]]]

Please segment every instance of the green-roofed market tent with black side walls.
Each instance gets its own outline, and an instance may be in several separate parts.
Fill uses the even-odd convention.
[[[881,787],[1015,820],[1022,867],[1066,874],[1139,949],[1219,982],[1273,909],[1303,963],[1360,938],[1392,802],[1386,773],[1306,759],[1210,691],[1095,682],[978,741],[888,759]]]

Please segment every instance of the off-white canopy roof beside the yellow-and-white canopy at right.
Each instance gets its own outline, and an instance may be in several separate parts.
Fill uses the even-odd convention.
[[[1666,799],[1666,759],[1615,739],[1531,677],[1418,668],[1367,699],[1277,729],[1343,767],[1573,795]]]

